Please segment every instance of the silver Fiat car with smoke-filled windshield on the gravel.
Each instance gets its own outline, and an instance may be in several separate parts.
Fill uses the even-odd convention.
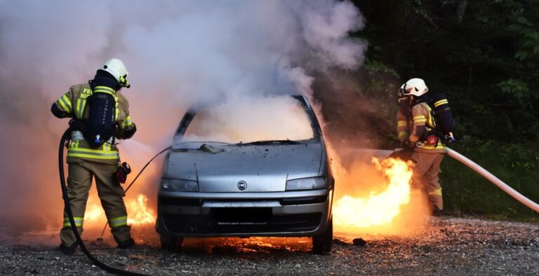
[[[266,118],[281,113],[277,102]],[[183,237],[277,236],[312,237],[314,253],[331,251],[335,181],[324,138],[305,97],[286,96],[284,103],[293,115],[271,127],[267,122],[250,127],[277,127],[259,136],[275,139],[253,141],[262,130],[230,130],[244,124],[227,126],[212,109],[185,113],[159,188],[156,229],[164,249],[180,248]],[[248,111],[261,112],[256,106]],[[279,130],[291,120],[288,130]],[[307,134],[294,137],[298,130]],[[286,131],[291,134],[284,137]]]

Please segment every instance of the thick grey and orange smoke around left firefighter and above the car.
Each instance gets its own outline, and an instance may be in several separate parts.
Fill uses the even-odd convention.
[[[0,0],[0,218],[60,225],[67,120],[49,109],[110,57],[130,73],[122,92],[139,131],[120,147],[136,170],[170,144],[192,104],[312,97],[312,69],[361,64],[366,44],[347,34],[362,27],[357,8],[336,0]],[[157,175],[149,169],[139,188],[156,190]]]

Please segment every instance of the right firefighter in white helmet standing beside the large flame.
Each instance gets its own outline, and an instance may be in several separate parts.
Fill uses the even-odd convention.
[[[398,92],[400,109],[397,112],[397,135],[405,151],[411,152],[413,167],[412,188],[427,195],[432,215],[444,209],[439,170],[446,152],[444,144],[434,135],[437,127],[432,112],[429,89],[421,78],[406,81]]]

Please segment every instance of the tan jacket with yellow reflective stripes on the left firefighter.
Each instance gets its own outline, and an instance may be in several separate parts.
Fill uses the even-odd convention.
[[[96,163],[116,164],[120,157],[114,138],[128,139],[136,131],[135,123],[131,121],[131,116],[129,116],[127,98],[120,91],[115,91],[107,86],[95,86],[92,90],[88,83],[72,85],[69,91],[53,104],[54,115],[58,118],[87,119],[86,101],[93,92],[108,93],[116,100],[114,123],[117,127],[114,137],[98,148],[91,148],[81,131],[73,131],[72,142],[67,151],[67,163],[80,163],[81,160],[87,160]]]

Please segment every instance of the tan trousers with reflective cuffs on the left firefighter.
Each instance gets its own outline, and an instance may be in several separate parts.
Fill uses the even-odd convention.
[[[124,188],[114,180],[117,165],[81,161],[80,163],[69,163],[68,166],[67,196],[79,233],[82,233],[88,191],[90,191],[94,177],[101,205],[105,209],[114,240],[120,243],[131,239],[131,227],[127,225],[127,211],[123,198],[126,194]],[[60,240],[66,247],[70,247],[76,242],[65,209]]]

